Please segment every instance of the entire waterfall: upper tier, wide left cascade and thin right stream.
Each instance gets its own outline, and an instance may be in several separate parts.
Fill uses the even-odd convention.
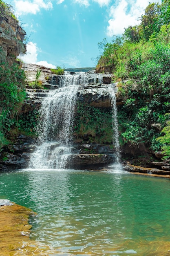
[[[59,89],[49,92],[42,101],[37,150],[31,154],[30,168],[66,168],[72,151],[73,117],[77,90],[80,84],[102,83],[102,74],[92,72],[65,72],[59,79]],[[115,162],[120,162],[119,132],[115,92],[111,85],[103,88],[110,94],[115,146]]]

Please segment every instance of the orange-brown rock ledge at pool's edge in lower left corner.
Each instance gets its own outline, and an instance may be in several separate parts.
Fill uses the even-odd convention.
[[[29,216],[36,213],[9,200],[0,200],[0,256],[57,255],[48,246],[29,240]]]

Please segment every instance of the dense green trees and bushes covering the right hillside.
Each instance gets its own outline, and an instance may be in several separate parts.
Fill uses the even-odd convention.
[[[98,72],[113,72],[119,82],[118,106],[121,143],[170,157],[170,1],[150,3],[140,24],[129,26],[122,37],[98,43],[102,55]]]

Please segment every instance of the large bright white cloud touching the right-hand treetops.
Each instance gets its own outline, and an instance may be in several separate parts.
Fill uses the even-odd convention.
[[[109,10],[107,35],[123,34],[125,27],[137,25],[149,2],[155,0],[119,0],[117,6],[112,5]]]

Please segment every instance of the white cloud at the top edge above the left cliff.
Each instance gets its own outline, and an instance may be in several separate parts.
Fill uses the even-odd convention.
[[[40,11],[40,9],[52,9],[53,4],[49,1],[47,3],[44,0],[14,0],[15,3],[15,11],[17,15],[21,14],[36,14]]]

